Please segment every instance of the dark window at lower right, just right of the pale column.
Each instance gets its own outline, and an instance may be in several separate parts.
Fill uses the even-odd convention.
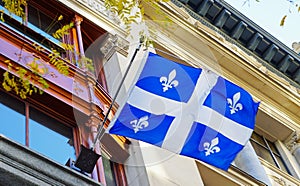
[[[251,144],[259,157],[268,161],[277,168],[289,173],[273,142],[253,132],[251,136]]]

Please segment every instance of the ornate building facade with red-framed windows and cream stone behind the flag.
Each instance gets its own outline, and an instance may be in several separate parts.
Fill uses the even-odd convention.
[[[299,55],[224,1],[172,0],[158,4],[163,14],[142,3],[148,50],[209,68],[261,101],[228,172],[121,136],[101,135],[94,146],[138,45],[103,1],[31,0],[23,20],[1,1],[0,185],[300,185]],[[53,35],[70,23],[68,34]],[[146,53],[134,58],[117,104]],[[81,145],[101,154],[91,173],[74,165]]]

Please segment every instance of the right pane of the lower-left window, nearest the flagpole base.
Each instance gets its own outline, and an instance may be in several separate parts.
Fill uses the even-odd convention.
[[[72,139],[71,128],[34,108],[30,108],[30,148],[65,164],[69,158],[76,158],[74,147],[68,143]]]

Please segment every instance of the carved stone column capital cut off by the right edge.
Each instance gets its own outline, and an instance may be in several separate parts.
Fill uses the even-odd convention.
[[[286,141],[286,146],[300,165],[300,131],[295,131]]]

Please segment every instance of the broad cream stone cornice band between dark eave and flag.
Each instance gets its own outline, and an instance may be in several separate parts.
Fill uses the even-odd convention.
[[[171,2],[162,4],[161,8],[173,21],[173,26],[160,28],[160,25],[152,23],[152,26],[156,25],[156,28],[160,29],[156,32],[160,34],[154,37],[156,42],[192,66],[208,67],[221,73],[244,87],[258,100],[266,102],[264,106],[270,107],[271,110],[264,108],[264,112],[270,116],[277,116],[276,119],[290,128],[299,128],[299,89],[266,69],[265,64],[243,52],[238,45],[232,44],[218,32],[189,16],[184,9]],[[146,15],[151,17],[154,11],[151,11],[151,7],[149,9],[146,9]],[[175,29],[172,30],[171,27]],[[206,45],[212,55],[203,51],[201,43]],[[245,76],[249,80],[245,79]]]

